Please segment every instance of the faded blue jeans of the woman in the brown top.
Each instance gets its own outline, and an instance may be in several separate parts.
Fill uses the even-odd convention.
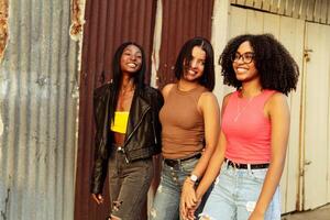
[[[163,163],[161,183],[157,188],[154,204],[151,209],[150,220],[178,220],[182,187],[195,168],[198,158],[182,162],[178,166],[170,167]],[[204,197],[200,209],[202,210],[206,197]]]

